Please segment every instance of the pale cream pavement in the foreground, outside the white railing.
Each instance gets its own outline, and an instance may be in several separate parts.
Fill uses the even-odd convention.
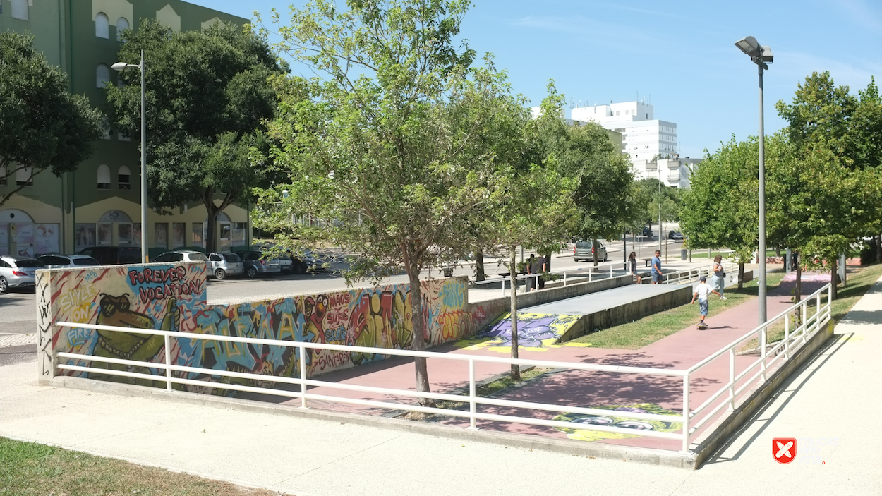
[[[38,387],[34,363],[0,368],[0,435],[300,496],[878,493],[882,427],[872,416],[882,410],[882,279],[835,333],[729,446],[694,472]],[[774,462],[775,437],[798,439],[795,462]]]

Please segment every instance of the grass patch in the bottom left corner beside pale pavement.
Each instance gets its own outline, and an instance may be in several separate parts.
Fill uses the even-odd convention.
[[[0,495],[276,496],[280,493],[0,438]]]

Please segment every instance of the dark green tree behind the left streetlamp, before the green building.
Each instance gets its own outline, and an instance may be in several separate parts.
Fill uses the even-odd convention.
[[[264,121],[273,116],[268,79],[287,71],[265,38],[222,26],[173,33],[153,19],[123,32],[119,60],[146,56],[147,184],[154,207],[201,201],[208,213],[206,250],[215,249],[217,216],[246,199],[271,174],[252,160],[267,151]],[[108,86],[116,122],[140,133],[140,74],[123,71],[126,86]],[[220,196],[220,203],[218,203]]]

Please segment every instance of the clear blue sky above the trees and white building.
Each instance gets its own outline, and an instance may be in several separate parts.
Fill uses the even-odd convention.
[[[269,18],[290,2],[190,0],[244,18]],[[302,5],[303,2],[297,2]],[[655,117],[677,124],[683,156],[718,149],[734,134],[758,132],[756,65],[734,42],[747,35],[769,45],[766,133],[785,122],[774,102],[790,101],[812,71],[830,71],[853,94],[882,76],[882,2],[477,1],[462,35],[491,52],[517,93],[538,105],[549,79],[577,104],[646,98]],[[284,19],[284,17],[283,17]],[[296,69],[295,69],[296,70]]]

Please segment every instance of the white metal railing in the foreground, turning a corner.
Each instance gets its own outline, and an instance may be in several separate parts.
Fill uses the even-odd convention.
[[[821,295],[826,291],[827,301],[826,304],[821,304]],[[814,307],[815,312],[809,316],[808,308],[811,304],[811,300],[814,299]],[[602,431],[602,432],[617,432],[622,434],[636,434],[639,436],[648,436],[654,438],[662,438],[668,440],[682,440],[684,453],[688,453],[689,447],[691,444],[691,439],[693,434],[697,432],[697,430],[705,425],[708,421],[718,414],[723,407],[729,405],[729,410],[733,410],[735,407],[736,398],[738,395],[741,395],[745,390],[749,387],[757,384],[758,382],[766,381],[766,374],[769,369],[773,367],[775,364],[780,364],[784,360],[789,359],[791,350],[796,342],[806,342],[809,335],[818,331],[822,324],[826,323],[828,319],[830,319],[831,313],[831,304],[830,304],[830,285],[827,284],[825,287],[818,289],[814,294],[810,297],[805,298],[802,302],[798,304],[794,304],[790,306],[784,312],[779,313],[773,319],[768,320],[766,323],[760,325],[759,327],[753,329],[750,333],[744,334],[736,341],[731,342],[728,346],[723,347],[722,349],[716,351],[709,357],[701,360],[698,364],[692,365],[687,370],[675,370],[675,369],[661,369],[661,368],[647,368],[647,367],[631,367],[631,366],[618,366],[618,365],[603,365],[603,364],[583,364],[583,363],[572,363],[572,362],[555,362],[549,360],[531,360],[531,359],[523,359],[523,358],[510,358],[510,357],[489,357],[489,356],[481,356],[481,355],[463,355],[463,354],[455,354],[455,353],[440,353],[436,351],[415,351],[411,349],[386,349],[386,348],[368,348],[363,346],[345,346],[338,344],[325,344],[319,342],[295,342],[295,341],[281,341],[281,340],[270,340],[270,339],[260,339],[260,338],[245,338],[245,337],[237,337],[237,336],[224,336],[224,335],[213,335],[213,334],[195,334],[195,333],[183,333],[178,331],[159,331],[152,329],[137,329],[138,334],[151,334],[151,335],[161,335],[165,340],[165,353],[164,353],[164,362],[162,363],[154,363],[154,362],[144,362],[138,360],[129,360],[123,358],[112,358],[112,357],[95,357],[93,355],[83,355],[78,353],[67,353],[67,352],[58,352],[56,353],[56,357],[60,358],[68,358],[71,360],[78,360],[81,362],[101,362],[104,364],[119,364],[119,365],[127,365],[131,367],[143,367],[146,369],[156,369],[160,371],[164,371],[163,375],[156,375],[153,373],[144,373],[144,372],[132,372],[131,370],[115,370],[109,368],[96,368],[93,366],[86,366],[82,364],[78,364],[80,362],[76,362],[75,364],[56,364],[56,367],[60,370],[66,371],[76,371],[76,372],[93,372],[101,375],[116,375],[122,377],[129,377],[133,379],[141,379],[141,380],[151,380],[157,382],[165,382],[166,388],[169,391],[174,392],[175,390],[172,388],[172,384],[185,384],[191,386],[203,386],[203,387],[213,387],[213,388],[222,388],[229,389],[235,391],[242,391],[247,393],[262,393],[268,395],[280,395],[280,396],[288,396],[292,398],[300,398],[301,404],[300,408],[308,408],[308,400],[319,400],[325,402],[340,402],[340,403],[350,403],[357,404],[363,406],[371,406],[377,408],[386,408],[386,409],[394,409],[394,410],[414,410],[421,411],[424,413],[432,413],[438,415],[449,415],[452,417],[467,417],[469,419],[469,428],[475,429],[477,420],[491,420],[498,422],[513,422],[519,424],[527,424],[527,425],[544,425],[549,427],[559,427],[559,428],[569,428],[569,429],[587,429],[593,431]],[[789,317],[791,315],[795,315],[797,318],[796,327],[790,327]],[[775,323],[783,319],[784,321],[784,336],[781,341],[770,345],[767,341],[768,338],[768,329],[773,326]],[[75,322],[56,322],[56,326],[58,327],[75,327],[82,329],[93,329],[93,330],[101,330],[108,332],[123,332],[130,333],[135,331],[130,327],[113,327],[113,326],[101,326],[96,324],[81,324]],[[751,339],[759,340],[759,354],[760,357],[758,360],[754,361],[750,364],[744,371],[736,374],[735,369],[735,355],[736,348],[740,346],[743,342],[751,340]],[[299,359],[299,372],[295,375],[298,377],[280,377],[280,376],[269,376],[257,373],[249,373],[249,372],[232,372],[225,370],[216,370],[216,369],[206,369],[201,367],[191,367],[185,365],[171,364],[170,357],[170,349],[171,349],[171,340],[172,339],[189,339],[189,340],[205,340],[205,341],[218,341],[218,342],[242,342],[242,343],[250,343],[250,344],[264,344],[264,345],[272,345],[272,346],[285,346],[288,348],[297,349],[297,357]],[[326,349],[326,350],[335,350],[335,351],[348,351],[348,352],[356,352],[356,353],[367,353],[367,354],[375,354],[384,357],[424,357],[424,358],[433,358],[433,359],[445,359],[445,360],[454,360],[459,362],[467,362],[468,364],[468,395],[452,395],[446,393],[424,393],[411,389],[393,389],[389,387],[372,387],[372,386],[360,386],[355,384],[347,384],[340,382],[332,382],[327,380],[315,380],[307,377],[306,373],[306,351],[307,349]],[[714,392],[714,394],[710,395],[705,402],[703,402],[698,408],[692,410],[690,408],[690,380],[691,376],[698,372],[702,367],[706,364],[711,363],[714,359],[721,357],[724,354],[729,355],[729,382],[723,387],[721,387],[718,391]],[[635,418],[642,420],[660,420],[665,422],[678,422],[683,425],[682,430],[679,432],[655,432],[655,431],[638,431],[635,432],[633,429],[621,428],[621,427],[609,427],[604,425],[587,425],[587,424],[579,424],[576,422],[563,422],[557,420],[549,420],[547,418],[540,417],[520,417],[514,415],[505,415],[505,414],[490,414],[483,413],[477,410],[478,405],[493,405],[493,406],[501,406],[501,407],[510,407],[510,408],[519,408],[526,410],[541,410],[541,411],[552,411],[552,412],[569,412],[569,413],[577,413],[577,414],[585,414],[585,415],[600,415],[606,416],[609,415],[609,410],[600,410],[600,409],[592,409],[592,408],[583,408],[576,407],[572,405],[565,404],[549,404],[549,403],[538,403],[538,402],[521,402],[521,401],[512,401],[512,400],[503,400],[498,398],[486,398],[481,397],[476,394],[476,380],[475,380],[475,363],[493,363],[493,364],[517,364],[517,365],[533,365],[538,367],[547,367],[547,368],[559,368],[559,369],[570,369],[570,370],[581,370],[581,371],[594,371],[594,372],[618,372],[618,373],[630,373],[630,374],[640,374],[640,375],[661,375],[661,376],[669,376],[669,377],[680,377],[683,380],[683,409],[684,414],[678,416],[669,416],[669,415],[659,415],[652,413],[639,413],[639,412],[630,412],[630,411],[616,411],[617,417],[626,417],[626,418]],[[750,374],[752,371],[756,370],[757,372],[751,375],[751,377],[747,380],[744,378]],[[177,375],[172,372],[179,372]],[[190,379],[185,377],[184,374],[195,373],[195,374],[206,374],[208,376],[213,377],[227,377],[227,378],[238,378],[238,379],[249,379],[249,380],[259,380],[262,382],[273,382],[273,383],[281,383],[281,384],[289,384],[299,386],[299,390],[292,391],[286,389],[275,389],[270,387],[252,387],[252,386],[244,386],[239,384],[230,384],[230,383],[219,383],[212,380],[198,380],[198,379]],[[742,382],[739,386],[739,382]],[[341,396],[332,396],[332,395],[319,395],[315,393],[309,392],[309,387],[327,387],[330,389],[343,389],[349,391],[359,391],[363,393],[372,393],[378,395],[393,395],[393,396],[407,396],[412,398],[431,398],[433,400],[440,401],[448,401],[448,402],[460,402],[467,403],[468,410],[455,410],[455,409],[441,409],[437,407],[428,407],[422,405],[415,404],[407,404],[400,402],[388,402],[388,401],[378,401],[378,400],[364,400],[360,398],[347,398]],[[716,406],[714,402],[716,402],[722,395],[727,395],[726,399]],[[713,406],[713,408],[712,408]],[[705,413],[706,410],[709,410]],[[691,423],[691,419],[693,417],[699,416],[699,414],[704,413],[704,416],[698,419],[694,424]]]

